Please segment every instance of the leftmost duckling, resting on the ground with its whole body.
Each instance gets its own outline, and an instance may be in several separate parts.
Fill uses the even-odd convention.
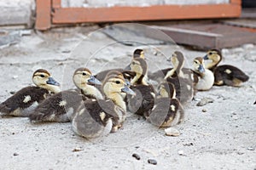
[[[28,116],[29,112],[51,93],[55,94],[61,91],[60,83],[50,77],[49,72],[44,69],[33,73],[32,82],[36,86],[21,88],[20,91],[0,104],[2,116]]]

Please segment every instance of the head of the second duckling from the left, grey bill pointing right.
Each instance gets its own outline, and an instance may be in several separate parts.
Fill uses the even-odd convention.
[[[74,71],[73,82],[80,89],[84,88],[87,84],[102,84],[96,77],[92,76],[92,73],[87,68],[79,68]]]

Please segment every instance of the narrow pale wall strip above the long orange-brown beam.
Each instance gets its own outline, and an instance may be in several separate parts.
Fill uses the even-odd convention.
[[[150,6],[157,4],[216,4],[230,0],[62,0],[62,7]]]

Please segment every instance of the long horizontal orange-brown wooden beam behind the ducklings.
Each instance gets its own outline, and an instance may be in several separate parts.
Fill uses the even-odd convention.
[[[235,0],[234,0],[235,1]],[[236,0],[237,1],[237,0]],[[207,5],[155,5],[149,7],[55,8],[54,24],[136,20],[183,20],[239,17],[233,3]]]

